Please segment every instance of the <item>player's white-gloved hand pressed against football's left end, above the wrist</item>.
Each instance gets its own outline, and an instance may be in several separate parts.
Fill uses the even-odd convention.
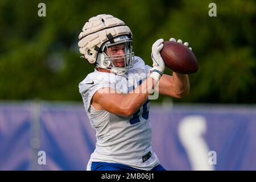
[[[164,61],[160,55],[160,51],[163,48],[163,39],[158,39],[156,42],[152,45],[152,53],[151,58],[153,60],[153,68],[157,69],[160,72],[164,72]],[[151,70],[153,70],[153,68]]]

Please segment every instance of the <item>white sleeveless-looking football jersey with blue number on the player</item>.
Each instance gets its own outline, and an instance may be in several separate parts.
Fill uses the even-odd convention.
[[[134,67],[125,75],[118,76],[95,69],[80,82],[79,92],[97,138],[96,149],[90,156],[87,170],[90,170],[91,162],[121,163],[143,170],[150,170],[159,164],[151,146],[149,100],[130,117],[121,117],[104,109],[96,110],[90,104],[93,94],[101,88],[109,87],[122,93],[137,88],[150,74],[150,68],[140,57],[135,56]]]

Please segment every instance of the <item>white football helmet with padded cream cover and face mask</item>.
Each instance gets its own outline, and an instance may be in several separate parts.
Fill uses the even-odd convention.
[[[112,15],[101,14],[86,22],[79,35],[79,51],[89,63],[96,67],[109,69],[117,75],[123,75],[133,67],[133,35],[125,23]],[[109,47],[125,43],[125,54],[109,56]],[[107,53],[105,52],[107,51]],[[113,61],[123,57],[124,67],[116,67]]]

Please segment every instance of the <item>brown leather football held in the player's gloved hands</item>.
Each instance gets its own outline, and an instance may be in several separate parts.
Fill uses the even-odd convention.
[[[191,74],[198,70],[198,63],[194,53],[183,44],[165,41],[160,54],[167,68],[176,73]]]

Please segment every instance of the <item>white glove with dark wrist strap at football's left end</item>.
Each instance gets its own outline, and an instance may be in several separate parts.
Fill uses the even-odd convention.
[[[158,39],[152,45],[151,58],[153,60],[153,68],[150,69],[152,71],[150,77],[154,78],[156,81],[159,81],[160,77],[163,75],[164,68],[166,67],[160,55],[160,51],[163,48],[163,42],[163,39]]]

